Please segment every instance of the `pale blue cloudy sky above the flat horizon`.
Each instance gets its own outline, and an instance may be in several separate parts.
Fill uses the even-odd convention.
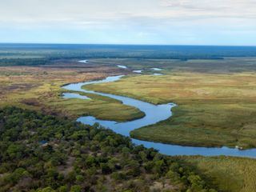
[[[0,42],[256,46],[256,0],[0,0]]]

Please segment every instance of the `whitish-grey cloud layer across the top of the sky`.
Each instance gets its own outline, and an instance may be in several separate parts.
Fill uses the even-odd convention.
[[[254,19],[256,0],[8,0],[0,24],[52,26],[166,24],[213,18]]]

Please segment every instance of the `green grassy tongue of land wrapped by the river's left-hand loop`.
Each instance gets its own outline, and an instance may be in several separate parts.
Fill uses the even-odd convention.
[[[63,90],[63,92],[65,92]],[[80,93],[81,94],[81,93]],[[82,100],[79,98],[54,98],[50,102],[50,106],[56,110],[62,109],[66,114],[74,117],[94,116],[102,120],[113,120],[117,122],[131,121],[136,118],[142,118],[144,113],[132,107],[122,105],[122,102],[112,98],[106,98],[97,94],[84,94],[90,100]]]

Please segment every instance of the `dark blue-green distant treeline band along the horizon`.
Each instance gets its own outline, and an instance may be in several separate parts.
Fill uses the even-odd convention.
[[[33,58],[22,58],[24,56]],[[34,56],[42,58],[34,58]],[[59,58],[155,58],[186,61],[225,57],[256,57],[256,47],[0,44],[0,66],[43,65]]]

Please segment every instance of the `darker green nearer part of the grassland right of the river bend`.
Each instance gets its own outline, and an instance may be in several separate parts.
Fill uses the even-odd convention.
[[[174,116],[131,132],[134,138],[185,146],[239,146],[255,142],[255,104],[187,104],[173,109]],[[196,139],[194,139],[196,138]]]

